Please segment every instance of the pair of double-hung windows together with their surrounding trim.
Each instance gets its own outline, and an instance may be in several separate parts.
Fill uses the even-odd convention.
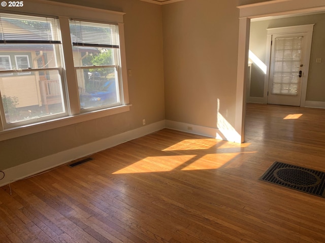
[[[37,6],[26,6],[28,14],[0,13],[0,141],[131,106],[124,13]]]

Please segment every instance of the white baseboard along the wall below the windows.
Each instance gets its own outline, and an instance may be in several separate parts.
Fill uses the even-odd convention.
[[[89,154],[114,147],[118,144],[143,137],[150,133],[157,132],[165,127],[165,120],[161,120],[157,123],[149,124],[135,130],[127,131],[125,133],[88,143],[66,151],[61,151],[56,154],[35,159],[29,161],[28,163],[9,168],[4,170],[5,178],[0,181],[0,186],[4,186],[28,176],[36,175],[57,166],[67,164],[77,158],[82,158]]]

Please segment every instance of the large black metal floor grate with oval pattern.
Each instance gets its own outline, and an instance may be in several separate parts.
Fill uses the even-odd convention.
[[[325,173],[321,171],[275,161],[259,180],[325,197]]]

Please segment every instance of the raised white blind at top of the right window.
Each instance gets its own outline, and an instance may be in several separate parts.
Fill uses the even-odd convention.
[[[70,20],[70,31],[73,46],[119,48],[116,24]]]

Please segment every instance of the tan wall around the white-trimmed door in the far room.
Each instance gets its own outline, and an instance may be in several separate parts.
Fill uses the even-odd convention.
[[[325,102],[325,83],[323,70],[325,68],[325,14],[315,14],[300,17],[282,18],[266,21],[252,22],[250,28],[250,50],[263,62],[266,58],[267,28],[315,24],[311,47],[309,75],[307,83],[307,101]],[[316,58],[322,58],[316,63]],[[264,74],[258,68],[252,69],[251,94],[254,97],[263,97]]]

